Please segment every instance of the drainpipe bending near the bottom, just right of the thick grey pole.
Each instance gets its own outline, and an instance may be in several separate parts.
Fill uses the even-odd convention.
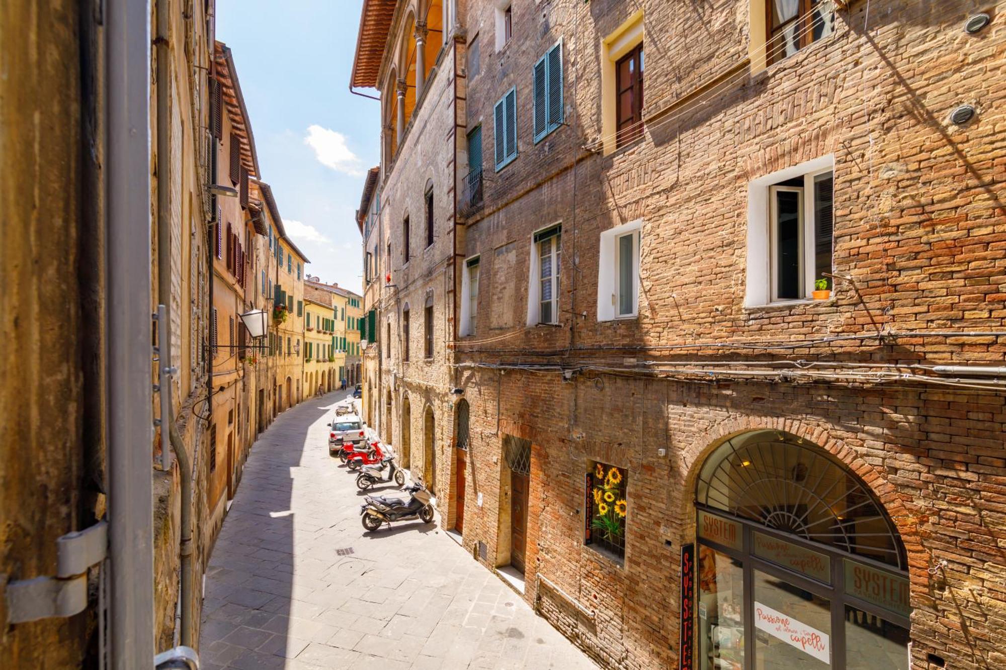
[[[168,43],[170,5],[168,0],[157,0],[157,295],[164,305],[165,325],[171,324],[171,139],[168,96],[168,61],[171,49]],[[166,327],[165,332],[170,332]],[[171,367],[171,342],[160,342],[160,365]],[[171,378],[161,377],[161,392],[171,391]],[[169,395],[170,397],[170,395]],[[161,417],[162,469],[171,467],[165,434],[178,459],[178,477],[181,493],[181,546],[180,583],[178,600],[181,608],[181,644],[192,646],[192,460],[186,451],[178,428],[175,426],[172,402],[165,403],[167,415]]]

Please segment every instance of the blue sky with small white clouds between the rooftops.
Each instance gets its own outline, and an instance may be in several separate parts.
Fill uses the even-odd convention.
[[[377,164],[379,103],[349,93],[361,0],[217,0],[262,179],[307,272],[362,292],[354,212]],[[364,93],[373,94],[373,91]]]

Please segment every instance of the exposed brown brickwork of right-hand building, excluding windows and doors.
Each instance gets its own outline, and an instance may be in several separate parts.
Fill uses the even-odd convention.
[[[833,35],[749,71],[745,59],[757,60],[759,47],[748,43],[748,10],[760,4],[748,0],[687,10],[657,0],[514,2],[514,38],[498,51],[494,3],[464,5],[481,63],[467,72],[459,110],[466,131],[482,124],[486,182],[483,207],[457,228],[457,258],[481,255],[479,312],[474,335],[453,351],[459,367],[431,369],[424,383],[460,386],[471,406],[466,499],[441,501],[465,505],[466,547],[485,542],[489,568],[509,561],[502,443],[530,440],[525,598],[603,664],[674,666],[677,565],[695,537],[697,471],[725,438],[776,429],[844,463],[896,525],[908,555],[914,666],[928,667],[930,653],[947,667],[1006,661],[996,640],[1006,620],[1003,395],[912,379],[873,385],[857,378],[866,368],[833,365],[931,374],[907,366],[1002,364],[1006,117],[994,82],[1006,74],[1006,26],[966,34],[964,18],[982,8],[969,0],[873,0],[868,16],[867,3],[853,2]],[[603,155],[592,151],[603,144],[599,45],[639,9],[647,130]],[[567,125],[535,144],[531,68],[559,38]],[[512,87],[518,156],[496,172],[493,107]],[[979,114],[957,127],[948,116],[962,102]],[[413,169],[423,163],[404,156],[439,151],[445,170],[453,165],[444,140],[455,113],[421,101],[403,151],[383,166],[382,199],[392,208],[425,181]],[[834,272],[853,281],[836,282],[829,301],[745,306],[758,262],[747,247],[749,183],[828,155]],[[380,248],[389,239],[395,262],[401,211],[381,217],[390,227]],[[599,322],[601,233],[635,219],[643,220],[639,316]],[[559,323],[525,328],[532,234],[556,222]],[[450,279],[460,302],[460,273]],[[416,315],[413,307],[413,338]],[[959,334],[968,330],[996,334]],[[766,346],[787,343],[795,344]],[[767,361],[798,360],[839,377],[753,375]],[[653,363],[671,362],[741,371],[654,378]],[[541,364],[551,368],[526,369]],[[582,542],[583,474],[595,460],[628,471],[624,561]],[[931,575],[940,560],[946,574]],[[566,596],[539,588],[538,573]]]

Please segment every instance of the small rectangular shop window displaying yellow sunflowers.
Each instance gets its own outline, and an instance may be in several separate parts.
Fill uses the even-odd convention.
[[[614,554],[626,555],[626,473],[622,468],[595,463],[586,475],[585,543]]]

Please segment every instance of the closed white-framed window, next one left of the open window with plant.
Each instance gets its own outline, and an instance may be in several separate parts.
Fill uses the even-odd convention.
[[[639,257],[642,219],[601,233],[598,263],[598,321],[639,314]]]

